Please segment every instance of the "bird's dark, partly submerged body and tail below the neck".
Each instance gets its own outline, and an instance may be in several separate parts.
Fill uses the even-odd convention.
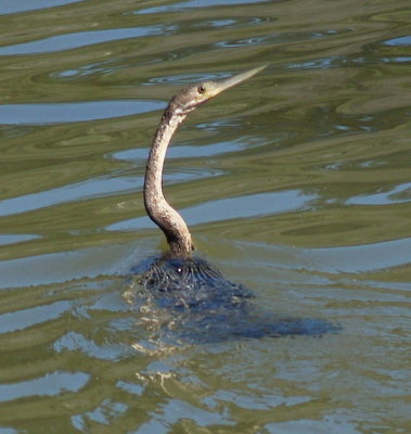
[[[217,343],[265,336],[322,336],[341,327],[321,319],[291,318],[269,312],[253,303],[255,294],[233,283],[206,260],[152,257],[133,267],[132,288],[151,314],[167,312],[159,335],[170,342]],[[147,309],[145,309],[146,311]]]

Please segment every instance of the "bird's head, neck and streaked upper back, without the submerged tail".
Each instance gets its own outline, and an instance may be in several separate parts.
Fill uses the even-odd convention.
[[[266,68],[261,65],[253,69],[219,80],[202,81],[183,88],[171,98],[157,130],[145,168],[144,206],[149,217],[163,231],[169,251],[150,263],[146,268],[134,267],[141,276],[140,283],[153,293],[176,294],[168,299],[175,306],[207,306],[218,299],[226,306],[237,305],[239,299],[248,298],[253,293],[242,284],[227,280],[220,270],[207,260],[193,256],[194,243],[182,216],[167,202],[163,192],[163,169],[166,152],[172,136],[190,113],[219,93]]]

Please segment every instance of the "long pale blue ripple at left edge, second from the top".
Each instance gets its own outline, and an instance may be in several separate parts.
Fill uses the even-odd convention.
[[[74,34],[52,36],[33,42],[3,46],[0,48],[0,55],[53,53],[56,51],[74,50],[95,43],[112,42],[120,39],[169,35],[174,30],[174,26],[149,26],[78,31]]]

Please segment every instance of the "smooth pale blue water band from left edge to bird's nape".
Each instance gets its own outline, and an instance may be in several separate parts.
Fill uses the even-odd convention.
[[[0,125],[47,125],[110,119],[164,108],[144,100],[30,103],[0,105]]]

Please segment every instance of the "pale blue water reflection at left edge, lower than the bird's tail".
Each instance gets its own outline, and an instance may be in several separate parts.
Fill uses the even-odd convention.
[[[85,372],[48,373],[44,376],[20,383],[0,384],[0,401],[5,403],[28,396],[56,396],[64,392],[78,392],[89,381]]]

